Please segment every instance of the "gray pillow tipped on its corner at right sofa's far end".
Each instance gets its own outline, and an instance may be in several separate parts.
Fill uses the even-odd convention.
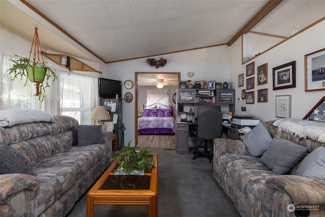
[[[243,139],[243,142],[248,148],[248,152],[253,157],[261,156],[266,150],[268,150],[272,141],[269,131],[261,122],[259,122],[256,127],[240,138]]]

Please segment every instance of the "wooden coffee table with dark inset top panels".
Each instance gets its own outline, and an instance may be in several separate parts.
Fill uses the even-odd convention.
[[[116,161],[105,171],[87,194],[87,216],[93,216],[94,204],[149,205],[149,216],[158,216],[158,156],[152,154],[156,163],[151,173],[115,176],[112,171]],[[120,185],[130,179],[135,189],[121,189]],[[110,180],[113,180],[110,182]],[[118,180],[118,181],[116,181]],[[115,183],[114,183],[115,182]],[[120,182],[116,184],[116,182]]]

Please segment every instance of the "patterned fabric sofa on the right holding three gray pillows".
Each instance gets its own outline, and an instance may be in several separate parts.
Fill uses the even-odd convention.
[[[278,131],[272,122],[263,123],[271,137],[277,135],[307,147],[304,157],[317,147],[325,146],[323,142]],[[281,150],[279,154],[287,158]],[[321,160],[325,162],[325,158]],[[278,175],[261,162],[261,157],[252,157],[243,141],[214,140],[213,177],[242,216],[296,216],[295,211],[299,209],[301,212],[308,209],[309,216],[325,216],[325,181],[297,175],[302,161],[288,173]],[[322,174],[325,175],[325,170]]]

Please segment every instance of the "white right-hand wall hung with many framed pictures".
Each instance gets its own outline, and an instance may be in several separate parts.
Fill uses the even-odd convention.
[[[238,87],[238,82],[232,88],[236,89],[236,98],[241,96],[241,90],[246,88],[246,65],[255,61],[255,104],[246,104],[246,112],[255,115],[261,121],[278,119],[275,116],[275,96],[291,95],[291,117],[303,118],[314,105],[325,96],[325,91],[305,91],[305,55],[325,47],[325,21],[314,25],[295,37],[285,41],[268,52],[241,64],[241,39],[230,48],[231,81],[236,83],[238,75],[244,73],[244,86]],[[296,61],[296,88],[273,90],[272,68]],[[268,84],[257,86],[257,67],[268,63]],[[250,76],[252,77],[252,76]],[[249,78],[250,78],[249,77]],[[257,103],[257,90],[268,88],[268,103]],[[251,91],[249,90],[249,91]],[[236,102],[236,113],[242,113],[242,102]]]

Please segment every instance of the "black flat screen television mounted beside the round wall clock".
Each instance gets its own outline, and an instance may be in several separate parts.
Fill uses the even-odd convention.
[[[107,78],[98,79],[99,96],[105,98],[115,98],[118,94],[118,98],[122,98],[122,82]]]

